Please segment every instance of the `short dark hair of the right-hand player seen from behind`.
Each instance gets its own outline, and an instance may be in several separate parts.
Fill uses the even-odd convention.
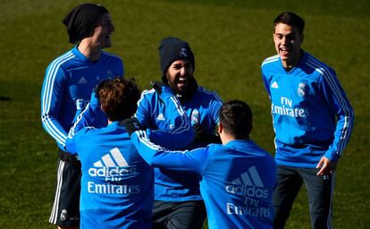
[[[243,101],[227,101],[221,108],[220,123],[223,124],[223,130],[236,139],[248,139],[252,130],[252,111]]]

